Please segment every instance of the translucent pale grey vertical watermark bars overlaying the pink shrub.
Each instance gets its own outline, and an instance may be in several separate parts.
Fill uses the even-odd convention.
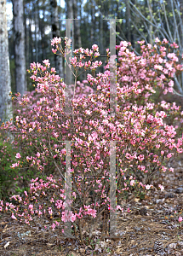
[[[66,38],[71,39],[71,20],[66,19]],[[116,55],[116,20],[117,19],[104,19],[110,20],[110,114],[112,117],[116,114],[116,96],[117,96],[117,55]],[[71,43],[66,45],[65,55],[66,63],[66,81],[65,84],[71,84],[71,69],[67,65],[70,63],[71,57]],[[103,55],[107,56],[107,55]],[[68,86],[65,88],[66,96],[66,113],[71,114],[71,104],[68,93]],[[66,188],[66,207],[65,212],[71,212],[71,141],[66,141],[66,172],[65,172],[65,188]],[[116,141],[110,141],[110,237],[115,236],[116,232]],[[71,221],[65,223],[65,234],[67,237],[73,237],[71,235]]]

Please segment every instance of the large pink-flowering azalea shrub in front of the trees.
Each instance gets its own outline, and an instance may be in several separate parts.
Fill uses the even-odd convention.
[[[72,200],[77,202],[77,207],[72,206],[69,216],[73,222],[78,218],[83,218],[84,215],[95,218],[96,213],[101,212],[106,205],[110,206],[110,198],[107,196],[110,177],[110,141],[117,141],[117,203],[125,193],[133,189],[140,191],[140,189],[153,188],[151,184],[146,183],[149,177],[157,171],[166,172],[167,167],[163,165],[163,162],[183,152],[181,131],[179,130],[180,137],[177,137],[178,127],[164,123],[168,115],[182,120],[183,113],[180,113],[180,107],[175,104],[171,106],[166,102],[155,105],[150,101],[150,96],[155,92],[156,86],[162,88],[164,93],[168,90],[172,91],[174,73],[182,71],[182,66],[176,64],[178,60],[175,55],[166,54],[167,49],[162,46],[162,44],[167,44],[165,40],[157,43],[158,47],[143,44],[140,42],[141,56],[135,56],[133,52],[130,52],[127,42],[121,42],[117,46],[119,65],[117,66],[117,113],[115,117],[109,115],[109,66],[106,65],[104,74],[99,73],[95,78],[88,74],[88,83],[95,85],[97,90],[96,92],[89,91],[86,96],[74,98],[72,101],[73,118],[66,115],[64,111],[66,84],[60,81],[59,76],[54,75],[54,68],[51,68],[49,73],[49,61],[43,61],[44,66],[40,63],[31,64],[31,73],[33,73],[31,79],[37,82],[36,91],[40,97],[37,102],[33,102],[35,99],[28,95],[20,99],[20,106],[26,106],[25,110],[23,108],[20,110],[14,125],[7,122],[2,128],[17,134],[16,140],[24,142],[25,148],[31,148],[34,141],[37,141],[32,154],[26,155],[20,152],[16,155],[17,162],[12,165],[12,168],[25,165],[37,172],[44,172],[51,160],[56,172],[60,174],[60,184],[57,184],[58,187],[53,185],[52,193],[50,184],[47,183],[49,187],[45,187],[41,179],[40,185],[37,177],[32,199],[38,206],[34,207],[30,204],[28,201],[30,195],[25,193],[26,212],[18,215],[20,213],[16,210],[19,210],[19,207],[6,205],[6,210],[10,208],[10,211],[15,214],[12,218],[20,217],[20,221],[25,218],[26,224],[29,224],[29,221],[37,216],[40,218],[48,209],[49,216],[52,216],[55,210],[65,209],[63,181],[66,149],[64,141],[73,141],[71,173],[72,176],[78,177],[77,182],[72,180],[75,190],[71,194]],[[97,52],[95,46],[93,50]],[[83,53],[84,50],[78,49],[78,52]],[[86,49],[85,54],[89,53],[93,54]],[[164,58],[165,56],[168,60]],[[86,62],[87,65],[84,66],[81,64],[81,59],[83,58],[77,62],[75,57],[71,63],[74,67],[91,67],[91,69],[95,69],[99,64],[95,61],[92,66],[91,63]],[[82,94],[81,91],[77,93]],[[16,133],[18,131],[19,134]],[[169,168],[169,172],[174,172],[174,169]],[[83,180],[79,177],[106,177],[106,179],[102,181],[100,179]],[[49,178],[52,179],[52,177],[47,179]],[[35,181],[32,180],[32,182]],[[54,180],[52,179],[51,182]],[[30,186],[31,192],[32,183]],[[43,204],[43,197],[40,197],[37,191],[41,193],[47,188],[48,193],[51,193],[49,201]],[[86,199],[89,196],[89,189],[92,188],[93,195],[98,201],[87,206]],[[159,188],[163,189],[163,186],[160,184]],[[42,193],[46,194],[44,190]],[[15,195],[12,198],[16,198]],[[20,195],[17,198],[20,202],[23,201]],[[4,206],[2,201],[2,210]],[[95,207],[98,207],[97,210]],[[120,206],[117,208],[123,211]],[[52,227],[55,228],[55,226],[53,220]]]

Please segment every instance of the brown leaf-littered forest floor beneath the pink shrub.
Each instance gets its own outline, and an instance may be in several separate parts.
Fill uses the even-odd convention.
[[[92,241],[87,245],[86,231],[83,241],[79,232],[76,239],[63,239],[58,230],[45,231],[37,226],[27,226],[14,222],[10,215],[0,218],[0,255],[158,255],[154,252],[155,241],[162,241],[164,255],[183,255],[183,226],[178,218],[183,209],[183,154],[169,167],[174,172],[161,173],[153,184],[163,184],[164,190],[149,190],[144,200],[131,197],[122,201],[124,209],[131,212],[117,214],[117,238],[100,239],[100,224],[94,230]],[[158,184],[157,183],[157,184]],[[146,208],[146,209],[145,209]],[[101,223],[102,220],[100,220]],[[83,230],[88,224],[83,224]],[[19,234],[30,232],[20,238]],[[28,233],[26,233],[28,235]],[[107,237],[109,236],[109,237]]]

